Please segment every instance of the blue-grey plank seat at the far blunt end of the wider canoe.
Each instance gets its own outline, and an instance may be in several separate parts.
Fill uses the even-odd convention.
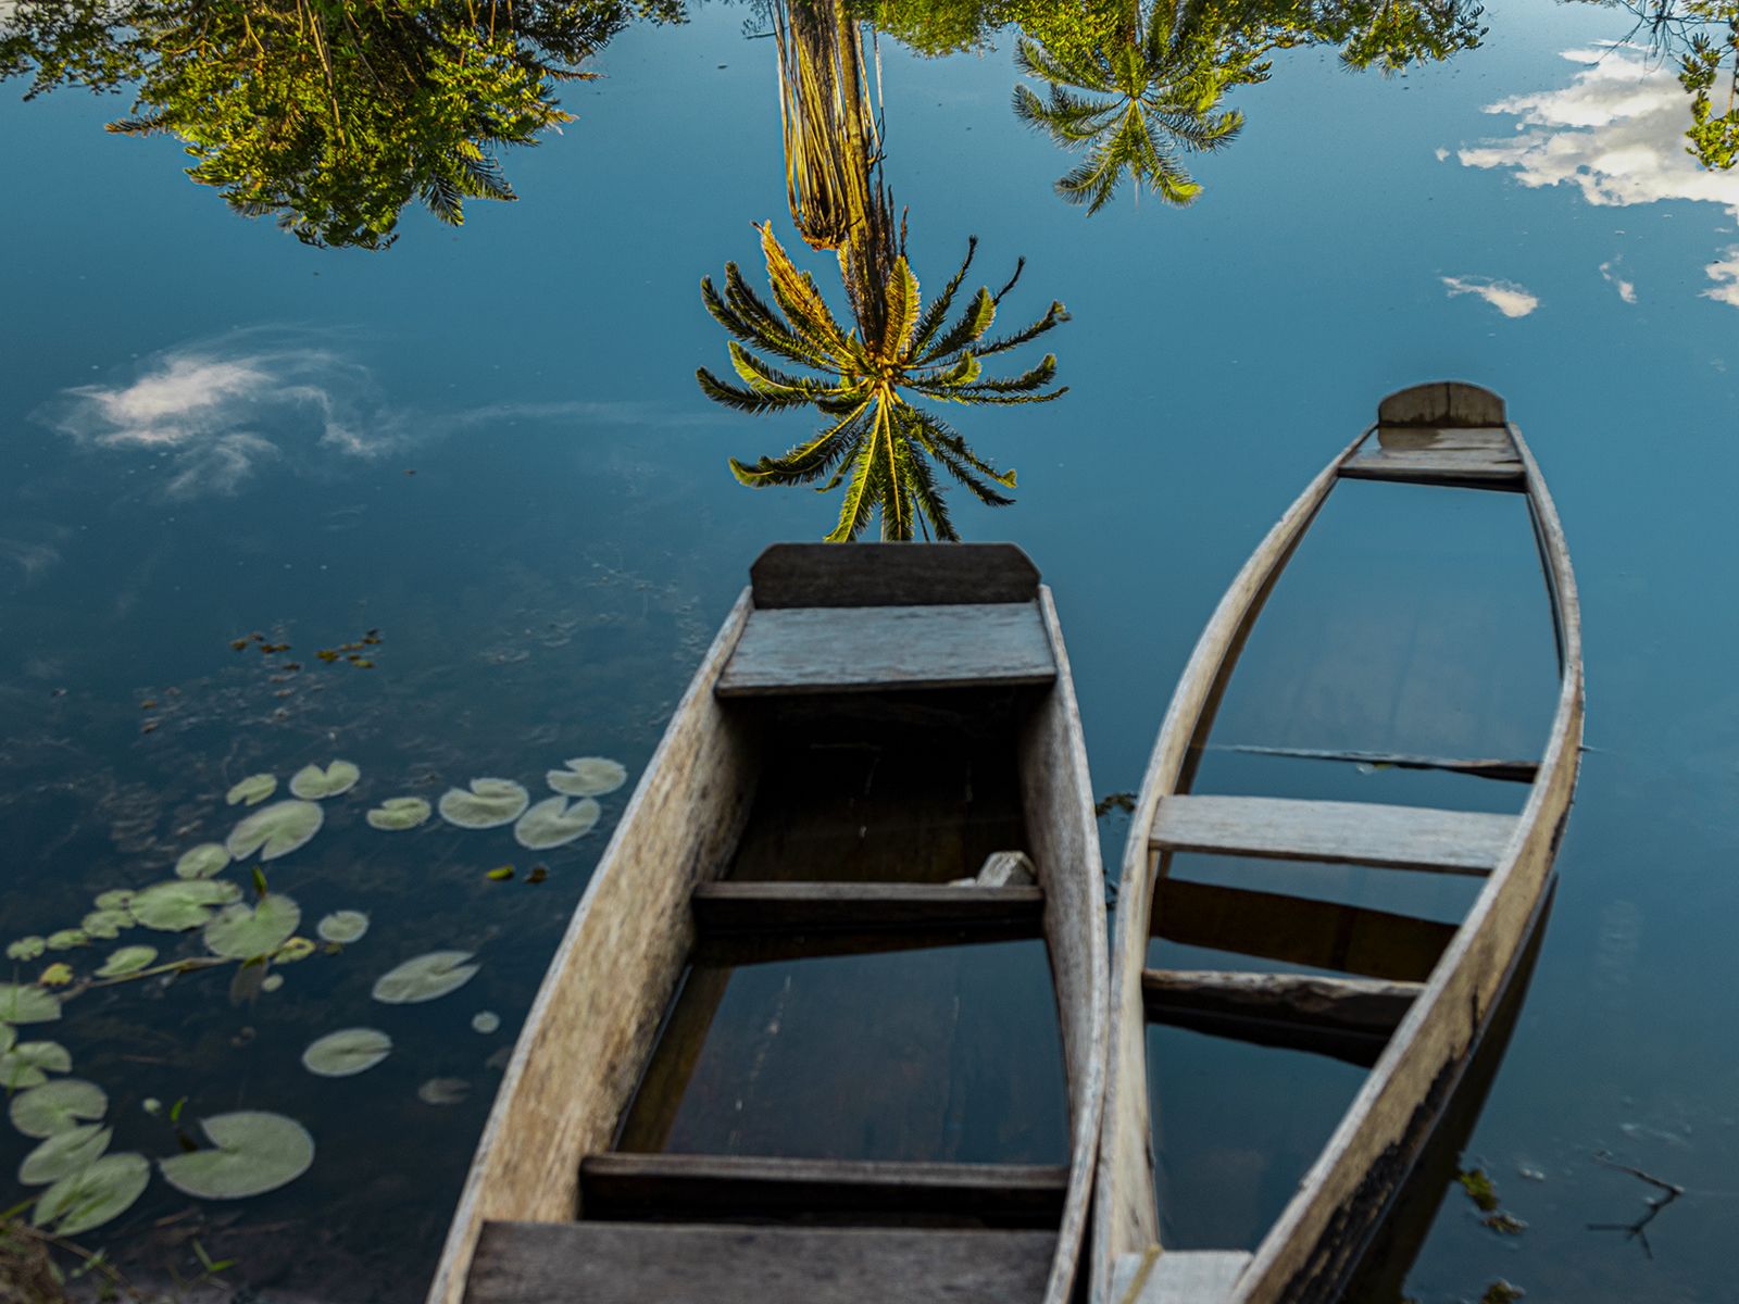
[[[1052,683],[1036,602],[798,607],[750,615],[720,697]]]

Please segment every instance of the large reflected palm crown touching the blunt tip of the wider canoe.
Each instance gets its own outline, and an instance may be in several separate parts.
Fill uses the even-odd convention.
[[[981,502],[1009,504],[1010,499],[993,485],[1012,489],[1014,471],[996,471],[953,428],[913,407],[901,391],[955,403],[1042,403],[1057,398],[1064,388],[1045,389],[1056,377],[1054,355],[1045,355],[1036,367],[1009,381],[984,379],[979,360],[1005,353],[1068,320],[1063,304],[1052,303],[1050,311],[1023,330],[984,341],[996,318],[996,304],[1019,280],[1021,268],[1016,266],[1014,276],[996,294],[979,289],[960,316],[949,322],[976,242],[969,243],[965,261],[943,294],[925,308],[901,233],[880,280],[852,275],[842,252],[847,296],[857,318],[857,327],[847,330],[821,297],[814,278],[798,271],[786,256],[772,224],[762,226],[760,233],[776,306],[748,287],[736,263],[725,264],[723,294],[711,278],[701,282],[708,311],[736,336],[730,362],[743,379],[743,384],[730,384],[703,367],[697,372],[701,389],[743,412],[816,407],[830,424],[783,457],[762,457],[753,466],[732,459],[737,480],[755,487],[826,480],[819,485],[821,492],[849,480],[838,525],[828,536],[835,542],[856,539],[878,508],[883,539],[911,539],[920,529],[937,539],[958,539],[932,461]],[[821,376],[779,370],[744,344]]]

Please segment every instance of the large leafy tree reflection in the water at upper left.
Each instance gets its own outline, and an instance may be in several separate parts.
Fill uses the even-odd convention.
[[[379,249],[421,200],[515,198],[496,158],[567,120],[555,83],[623,0],[19,0],[0,73],[134,85],[110,130],[186,143],[188,176],[308,243]]]

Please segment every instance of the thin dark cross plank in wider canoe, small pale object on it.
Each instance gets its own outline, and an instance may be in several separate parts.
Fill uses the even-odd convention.
[[[1036,937],[1045,918],[1040,887],[939,887],[932,883],[701,883],[694,923],[703,937],[727,932],[897,928],[958,932],[1024,925]]]

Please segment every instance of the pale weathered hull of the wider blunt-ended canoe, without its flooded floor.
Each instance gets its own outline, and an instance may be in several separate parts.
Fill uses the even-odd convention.
[[[842,899],[842,892],[830,885],[786,885],[791,890],[769,892],[765,883],[715,883],[732,861],[756,796],[763,730],[755,704],[784,694],[783,701],[795,704],[790,709],[800,709],[805,701],[875,694],[889,682],[920,695],[976,683],[1000,683],[1009,692],[1029,694],[1017,763],[1026,808],[1024,850],[1036,868],[1042,892],[1003,888],[1002,895],[1010,899],[1026,892],[1040,899],[1068,1078],[1069,1163],[1066,1181],[1059,1179],[1061,1212],[1056,1214],[1054,1245],[1038,1261],[1040,1288],[1029,1297],[1063,1304],[1069,1295],[1085,1240],[1101,1121],[1106,928],[1092,789],[1050,593],[1036,582],[1036,570],[1024,555],[1007,546],[779,546],[756,562],[753,577],[753,586],[732,607],[683,694],[556,949],[478,1142],[430,1304],[459,1304],[468,1297],[558,1297],[541,1294],[544,1287],[537,1281],[548,1285],[548,1278],[539,1278],[530,1267],[520,1271],[515,1255],[534,1254],[527,1247],[543,1247],[536,1254],[570,1252],[581,1257],[595,1257],[603,1247],[623,1262],[652,1271],[647,1266],[659,1259],[659,1252],[647,1252],[642,1241],[633,1240],[638,1224],[576,1224],[574,1219],[584,1217],[583,1161],[605,1156],[619,1139],[624,1111],[642,1083],[685,963],[696,951],[697,918],[729,934],[732,920],[744,918],[744,911],[767,909],[770,902],[786,915],[795,911],[805,927],[821,930],[854,923],[870,930],[889,928],[916,909],[941,909],[965,927],[998,923],[991,916],[1000,908],[986,913],[958,888],[899,892],[866,883],[852,885]],[[1026,643],[1014,647],[1007,664],[998,664],[996,647],[979,647],[977,662],[965,669],[958,647],[946,638],[941,640],[944,655],[936,655],[936,643],[925,642],[908,659],[911,664],[880,668],[870,664],[875,655],[831,655],[826,640],[810,642],[809,654],[802,654],[803,640],[810,636],[805,622],[814,624],[810,617],[817,617],[826,626],[830,610],[856,624],[863,624],[864,612],[889,612],[887,622],[901,629],[909,631],[916,624],[946,635],[951,614],[962,610],[960,603],[979,605],[984,615],[1009,615],[1012,605],[1026,603],[1031,609],[1029,624],[1019,631]],[[993,610],[1003,607],[1010,610]],[[854,626],[854,633],[861,638],[864,631]],[[1035,636],[1054,661],[1050,687],[1033,687],[1031,666],[1024,664],[1031,661]],[[925,649],[932,652],[929,659]],[[744,650],[743,657],[739,650]],[[876,655],[882,652],[885,649]],[[1019,923],[1021,911],[1031,904],[1023,901],[1010,901],[1003,923]],[[849,942],[842,946],[849,949]],[[798,1184],[791,1189],[805,1188]],[[567,1229],[551,1224],[565,1224]],[[596,1236],[609,1227],[617,1233],[610,1233],[605,1245]],[[694,1262],[704,1264],[713,1254],[708,1250],[713,1241],[703,1231],[671,1231],[671,1262],[699,1255]],[[743,1227],[737,1231],[746,1234]],[[803,1234],[809,1240],[798,1254],[838,1254],[840,1264],[857,1264],[840,1269],[843,1281],[835,1281],[835,1294],[796,1273],[790,1288],[803,1299],[861,1299],[876,1281],[887,1288],[892,1280],[890,1269],[870,1271],[866,1262],[885,1254],[916,1254],[899,1243],[901,1236],[916,1233]],[[1036,1233],[984,1234],[1026,1236],[1021,1241],[1023,1262],[1031,1261],[1029,1241]],[[593,1238],[586,1241],[591,1248],[576,1248],[576,1238],[586,1236]],[[473,1273],[480,1238],[485,1248],[494,1248],[485,1254],[492,1255],[490,1262]],[[647,1243],[656,1245],[656,1240]],[[574,1245],[562,1250],[565,1241]],[[936,1248],[939,1273],[948,1264],[963,1262],[963,1250],[955,1250],[967,1241],[943,1245],[920,1236],[918,1243]],[[741,1259],[739,1252],[732,1255],[720,1261],[720,1271],[725,1271],[727,1261]],[[984,1288],[1009,1290],[1014,1280],[1009,1271],[1014,1269]],[[1023,1271],[1031,1276],[1036,1269]],[[690,1285],[706,1299],[725,1299],[716,1288],[706,1294],[704,1278],[701,1273]],[[647,1297],[673,1299],[663,1294],[675,1288],[673,1280],[652,1273],[643,1281],[654,1292]],[[603,1287],[584,1297],[614,1299]]]

